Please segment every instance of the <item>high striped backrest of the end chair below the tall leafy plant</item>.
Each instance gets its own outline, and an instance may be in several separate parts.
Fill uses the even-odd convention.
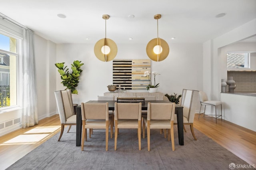
[[[66,123],[66,120],[75,114],[71,90],[55,91],[54,94],[60,115],[60,122]]]

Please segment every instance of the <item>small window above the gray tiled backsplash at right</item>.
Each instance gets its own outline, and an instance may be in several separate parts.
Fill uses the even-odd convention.
[[[250,53],[227,53],[228,68],[250,68]]]

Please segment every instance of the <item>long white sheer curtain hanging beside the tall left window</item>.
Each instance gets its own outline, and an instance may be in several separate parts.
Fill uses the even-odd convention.
[[[22,43],[20,101],[22,107],[22,127],[38,124],[36,106],[36,77],[34,68],[34,33],[24,29]]]

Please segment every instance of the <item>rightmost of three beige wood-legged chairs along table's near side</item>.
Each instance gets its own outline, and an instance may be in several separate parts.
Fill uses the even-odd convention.
[[[145,138],[145,126],[148,135],[148,151],[150,151],[150,129],[168,129],[168,140],[172,140],[174,151],[174,114],[175,103],[148,103],[148,115],[143,118],[142,130]]]

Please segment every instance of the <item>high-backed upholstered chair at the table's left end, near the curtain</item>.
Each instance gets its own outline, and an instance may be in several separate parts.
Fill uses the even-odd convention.
[[[70,89],[55,91],[54,94],[56,98],[58,112],[60,115],[61,131],[60,137],[58,139],[58,141],[60,141],[60,138],[62,137],[64,131],[64,126],[70,125],[68,129],[69,132],[71,126],[76,125],[76,115],[74,112],[72,94]]]

